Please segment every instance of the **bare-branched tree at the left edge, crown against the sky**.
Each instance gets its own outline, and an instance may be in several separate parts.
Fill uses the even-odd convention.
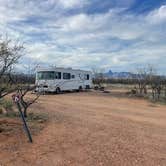
[[[8,37],[0,39],[0,98],[14,90],[11,79],[12,66],[23,54],[23,44],[14,42]]]

